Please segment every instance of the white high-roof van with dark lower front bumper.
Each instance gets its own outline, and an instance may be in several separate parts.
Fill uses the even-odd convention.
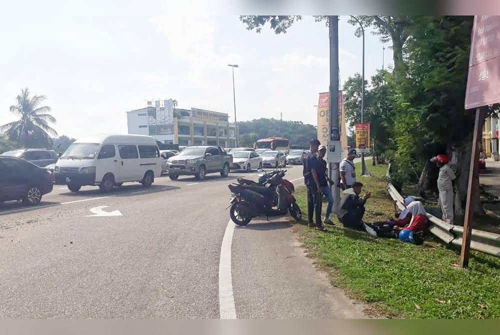
[[[54,167],[56,183],[76,192],[82,185],[98,185],[107,192],[125,181],[150,187],[161,175],[156,141],[144,135],[96,135],[75,140]]]

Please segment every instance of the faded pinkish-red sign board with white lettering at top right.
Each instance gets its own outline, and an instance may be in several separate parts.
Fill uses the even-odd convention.
[[[475,15],[465,109],[500,102],[500,16]]]

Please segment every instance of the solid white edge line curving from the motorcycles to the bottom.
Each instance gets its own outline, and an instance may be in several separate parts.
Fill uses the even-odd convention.
[[[219,315],[221,319],[235,319],[236,308],[232,293],[231,244],[234,223],[229,220],[225,228],[219,260]]]

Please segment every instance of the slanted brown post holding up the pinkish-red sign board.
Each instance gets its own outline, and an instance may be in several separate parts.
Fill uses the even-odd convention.
[[[470,153],[469,179],[467,185],[467,202],[465,204],[465,221],[463,223],[462,249],[460,251],[460,266],[468,266],[470,254],[470,234],[472,231],[472,220],[474,216],[474,200],[479,182],[479,150],[477,141],[481,138],[482,125],[484,123],[484,107],[478,107],[475,111],[474,136],[472,139],[472,150]]]

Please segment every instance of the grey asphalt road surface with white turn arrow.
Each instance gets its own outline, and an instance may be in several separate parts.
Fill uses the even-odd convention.
[[[289,167],[286,178],[302,184],[301,174]],[[241,175],[256,178],[164,176],[106,194],[55,185],[38,206],[3,204],[0,317],[219,318],[222,307],[238,318],[364,317],[305,257],[286,218],[229,229],[221,257],[233,226],[227,184]],[[99,206],[121,215],[89,216]],[[219,278],[222,258],[229,274]],[[228,287],[232,307],[219,305]]]

